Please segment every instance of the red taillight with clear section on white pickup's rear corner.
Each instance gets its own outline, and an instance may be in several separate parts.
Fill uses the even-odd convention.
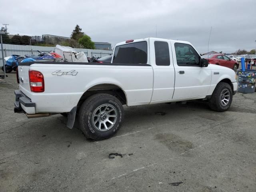
[[[44,92],[44,76],[39,71],[29,71],[29,84],[32,92]]]

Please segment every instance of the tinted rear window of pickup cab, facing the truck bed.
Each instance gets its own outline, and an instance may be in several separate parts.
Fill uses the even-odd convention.
[[[116,46],[113,63],[146,64],[148,45],[146,41]]]

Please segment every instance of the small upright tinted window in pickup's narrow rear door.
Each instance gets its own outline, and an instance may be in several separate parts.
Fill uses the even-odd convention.
[[[168,66],[170,65],[170,52],[167,42],[155,41],[155,55],[156,65]]]

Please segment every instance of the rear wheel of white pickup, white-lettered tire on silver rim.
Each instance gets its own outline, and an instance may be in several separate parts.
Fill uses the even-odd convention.
[[[100,106],[102,107],[100,108]],[[108,117],[108,115],[114,117]],[[124,108],[121,102],[110,94],[94,94],[90,96],[80,106],[78,114],[80,130],[82,130],[86,138],[93,140],[107,139],[116,134],[121,127],[123,119]],[[108,120],[112,124],[107,122]],[[109,129],[107,128],[108,126]]]

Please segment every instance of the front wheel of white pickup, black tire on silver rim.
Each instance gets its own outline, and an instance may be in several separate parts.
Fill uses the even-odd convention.
[[[227,90],[229,93],[229,101],[227,102],[226,105],[224,105],[221,100],[223,98],[224,90]],[[217,84],[216,88],[214,89],[214,92],[212,93],[212,96],[209,100],[209,106],[214,111],[223,112],[228,110],[232,103],[232,99],[233,92],[231,86],[228,83],[220,82]]]

